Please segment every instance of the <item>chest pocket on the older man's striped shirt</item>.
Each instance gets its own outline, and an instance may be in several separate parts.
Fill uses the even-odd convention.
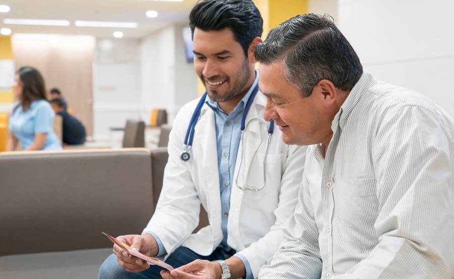
[[[340,225],[343,239],[355,246],[364,243],[365,238],[374,242],[377,236],[373,225],[378,214],[375,179],[338,177],[332,194],[334,218]]]

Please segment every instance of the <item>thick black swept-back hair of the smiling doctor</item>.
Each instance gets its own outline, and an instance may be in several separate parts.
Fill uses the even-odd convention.
[[[263,19],[251,0],[204,0],[197,3],[189,15],[189,26],[194,29],[219,31],[230,28],[244,53],[255,37],[261,37]]]

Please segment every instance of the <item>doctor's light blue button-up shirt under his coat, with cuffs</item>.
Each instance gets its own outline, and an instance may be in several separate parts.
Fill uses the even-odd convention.
[[[232,193],[233,176],[235,171],[235,163],[237,161],[238,148],[241,139],[241,119],[243,112],[251,97],[252,91],[258,85],[258,73],[255,71],[255,80],[249,91],[237,104],[234,110],[227,115],[219,104],[206,96],[205,103],[214,111],[214,120],[216,125],[216,147],[217,147],[217,165],[219,171],[219,190],[221,200],[221,229],[222,241],[219,244],[224,250],[232,249],[227,244],[228,232],[227,224],[229,221],[230,212],[230,195]],[[159,248],[158,256],[166,254],[162,242],[154,234],[150,233],[156,240]],[[246,267],[246,279],[253,279],[251,266],[240,253],[236,253],[234,257],[240,258]]]

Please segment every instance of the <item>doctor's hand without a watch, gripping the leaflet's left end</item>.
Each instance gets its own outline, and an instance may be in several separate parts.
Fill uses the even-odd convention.
[[[150,234],[143,235],[123,235],[117,237],[118,240],[131,246],[140,253],[147,256],[154,256],[158,253],[158,246],[154,237]],[[120,266],[129,272],[140,272],[148,269],[149,265],[146,261],[130,255],[117,244],[113,245],[113,253],[117,256],[117,261]]]

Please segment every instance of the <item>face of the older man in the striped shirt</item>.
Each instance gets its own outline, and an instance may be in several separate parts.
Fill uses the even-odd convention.
[[[321,143],[331,133],[330,120],[324,115],[319,94],[301,97],[300,90],[284,76],[282,60],[260,64],[259,87],[267,103],[263,117],[275,120],[282,141],[292,145]]]

